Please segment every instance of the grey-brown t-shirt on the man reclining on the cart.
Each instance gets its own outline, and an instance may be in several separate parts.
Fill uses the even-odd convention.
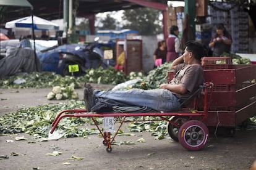
[[[186,100],[190,95],[197,91],[199,86],[204,82],[203,68],[200,64],[179,64],[176,66],[174,73],[175,76],[170,81],[170,84],[183,84],[187,89],[186,94],[177,94],[173,92],[173,94],[181,100]]]

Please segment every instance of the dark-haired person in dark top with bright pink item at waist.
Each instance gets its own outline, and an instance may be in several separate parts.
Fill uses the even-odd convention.
[[[158,67],[159,65],[162,65],[166,62],[166,43],[164,40],[158,41],[157,48],[155,49],[153,58],[155,61],[155,67]]]

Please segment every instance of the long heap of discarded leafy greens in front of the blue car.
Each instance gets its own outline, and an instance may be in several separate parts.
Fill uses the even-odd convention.
[[[129,77],[128,77],[129,78]],[[74,88],[83,87],[85,82],[98,84],[119,84],[127,80],[127,76],[122,71],[115,70],[113,67],[108,69],[96,68],[87,70],[85,76],[61,76],[52,72],[32,72],[21,73],[0,79],[1,88],[48,88],[54,86],[67,86],[74,83]]]

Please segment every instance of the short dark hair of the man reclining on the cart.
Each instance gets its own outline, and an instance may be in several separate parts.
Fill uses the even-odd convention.
[[[186,42],[187,51],[194,54],[195,59],[201,61],[202,57],[205,57],[205,47],[197,41]]]

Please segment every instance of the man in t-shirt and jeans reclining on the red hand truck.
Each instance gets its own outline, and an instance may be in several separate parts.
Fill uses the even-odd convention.
[[[168,84],[160,84],[159,89],[98,91],[85,83],[84,100],[87,111],[178,111],[181,103],[194,94],[204,82],[201,65],[201,58],[204,56],[205,49],[202,44],[188,41],[184,54],[173,61],[174,78]]]

